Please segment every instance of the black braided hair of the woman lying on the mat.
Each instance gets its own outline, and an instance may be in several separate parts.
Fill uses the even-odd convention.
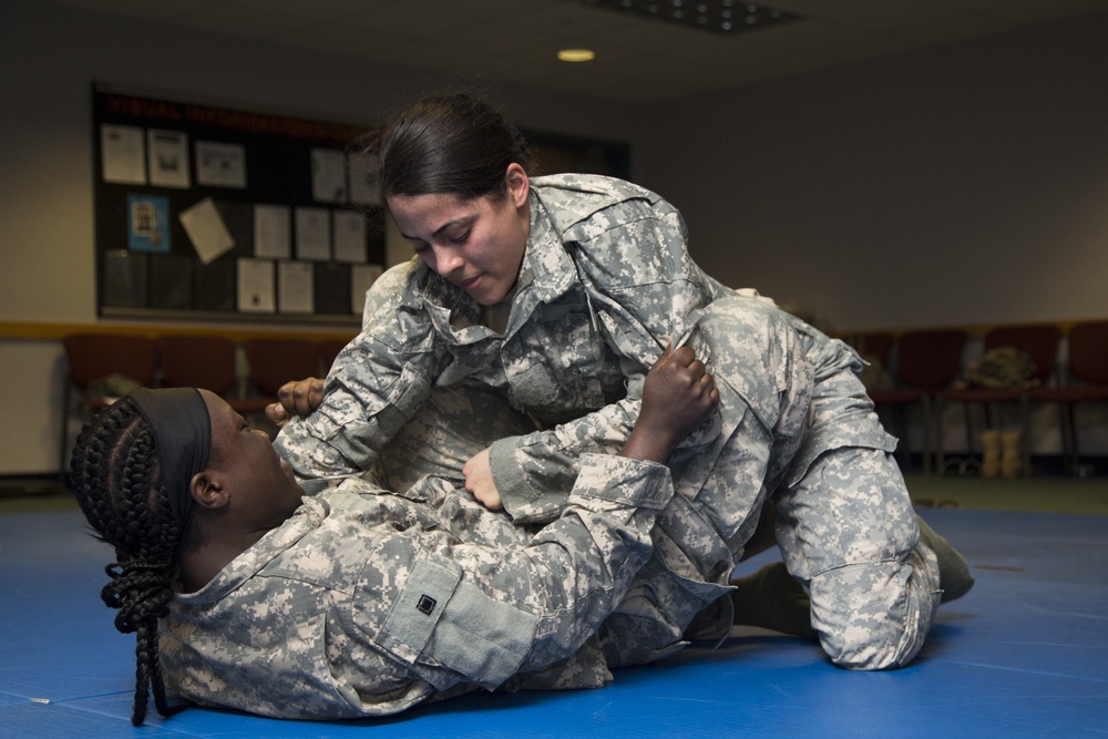
[[[170,613],[177,552],[187,522],[170,507],[154,434],[131,398],[92,417],[78,437],[72,486],[95,536],[115,547],[101,591],[119,609],[115,628],[135,634],[134,726],[146,718],[150,692],[162,716],[171,716],[158,664],[158,618]]]

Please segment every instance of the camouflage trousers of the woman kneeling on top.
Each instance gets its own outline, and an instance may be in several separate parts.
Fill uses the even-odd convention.
[[[659,515],[655,557],[601,630],[609,664],[680,648],[698,614],[705,634],[726,634],[720,586],[770,499],[783,561],[811,595],[812,626],[832,661],[909,663],[938,606],[938,568],[858,357],[755,298],[714,302],[688,343],[716,377],[720,412],[698,430],[700,443],[671,460],[680,500]],[[424,473],[461,481],[471,455],[533,429],[491,390],[437,388],[381,451],[378,474],[392,490]],[[714,605],[716,623],[706,626]]]

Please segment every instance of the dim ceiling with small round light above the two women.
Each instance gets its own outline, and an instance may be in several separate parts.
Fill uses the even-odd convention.
[[[765,0],[804,20],[721,35],[557,0],[52,1],[632,104],[1108,12],[1108,0]],[[597,59],[558,62],[564,47]]]

